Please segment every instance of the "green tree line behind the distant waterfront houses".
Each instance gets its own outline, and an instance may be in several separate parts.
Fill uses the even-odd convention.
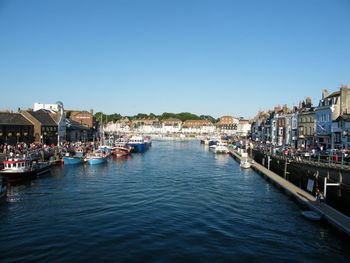
[[[159,121],[165,120],[165,119],[179,119],[181,121],[187,121],[187,120],[209,120],[212,123],[218,122],[218,119],[213,118],[210,115],[196,115],[193,113],[189,112],[181,112],[181,113],[169,113],[169,112],[164,112],[162,115],[156,115],[154,113],[146,114],[146,113],[138,113],[137,115],[134,116],[122,116],[118,113],[113,113],[113,114],[104,114],[103,112],[96,112],[95,113],[95,118],[98,122],[102,124],[106,124],[110,121],[116,122],[122,118],[127,117],[129,120],[134,120],[134,119],[148,119],[148,118],[157,118]]]

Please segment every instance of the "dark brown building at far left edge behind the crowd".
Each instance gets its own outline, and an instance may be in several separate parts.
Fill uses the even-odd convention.
[[[0,113],[0,144],[34,141],[34,124],[20,113]]]

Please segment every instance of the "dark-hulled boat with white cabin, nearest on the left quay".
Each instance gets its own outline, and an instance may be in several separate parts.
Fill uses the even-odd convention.
[[[47,173],[50,169],[50,162],[39,162],[26,155],[16,155],[4,161],[4,169],[0,171],[0,175],[6,177],[9,183],[13,183]]]

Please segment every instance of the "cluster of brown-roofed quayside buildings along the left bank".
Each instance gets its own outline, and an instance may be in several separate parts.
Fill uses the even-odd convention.
[[[88,111],[64,110],[63,104],[35,103],[30,110],[0,112],[0,144],[89,141],[97,123]]]

